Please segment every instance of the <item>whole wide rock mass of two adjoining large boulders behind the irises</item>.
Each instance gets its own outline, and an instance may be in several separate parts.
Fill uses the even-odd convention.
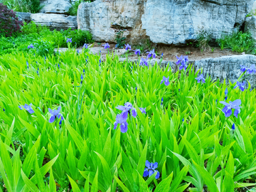
[[[119,29],[127,41],[148,36],[153,43],[183,45],[201,34],[219,38],[241,27],[254,0],[96,0],[78,8],[78,28],[95,41],[114,42]]]

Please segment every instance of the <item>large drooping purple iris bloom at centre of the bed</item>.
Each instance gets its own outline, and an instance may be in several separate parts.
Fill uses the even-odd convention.
[[[121,110],[122,113],[117,114],[116,121],[114,122],[114,129],[117,129],[117,125],[120,124],[120,131],[125,133],[128,130],[128,114],[132,114],[132,117],[135,118],[137,117],[137,111],[134,107],[132,107],[132,103],[130,102],[125,103],[124,106],[118,105],[116,108],[117,110]],[[146,108],[139,108],[139,110],[146,114]]]

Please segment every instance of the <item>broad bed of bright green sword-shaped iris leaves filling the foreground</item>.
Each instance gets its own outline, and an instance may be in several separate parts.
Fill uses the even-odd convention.
[[[199,73],[88,50],[2,56],[0,191],[249,191],[256,92]]]

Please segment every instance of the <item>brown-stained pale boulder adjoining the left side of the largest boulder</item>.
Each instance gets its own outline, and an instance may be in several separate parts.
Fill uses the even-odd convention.
[[[78,28],[92,33],[95,41],[115,42],[119,30],[131,43],[146,38],[142,29],[144,0],[97,0],[78,7]]]

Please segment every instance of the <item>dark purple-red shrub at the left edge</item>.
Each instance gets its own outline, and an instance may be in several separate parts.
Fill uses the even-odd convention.
[[[0,34],[3,36],[14,36],[21,32],[22,21],[18,21],[18,16],[4,4],[0,4]]]

